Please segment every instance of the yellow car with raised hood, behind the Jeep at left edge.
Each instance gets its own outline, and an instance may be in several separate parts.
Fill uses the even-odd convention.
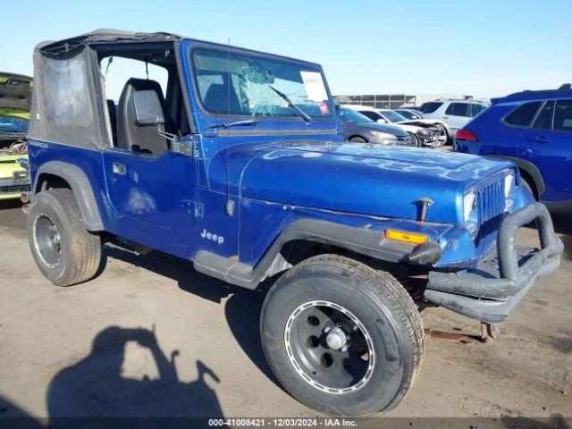
[[[0,72],[0,200],[20,198],[30,189],[25,142],[32,79]]]

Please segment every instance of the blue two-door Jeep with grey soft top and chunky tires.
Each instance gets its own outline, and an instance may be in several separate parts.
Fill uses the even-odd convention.
[[[106,102],[102,61],[164,68]],[[331,415],[403,400],[419,309],[504,320],[562,245],[517,168],[343,141],[322,68],[166,33],[40,44],[29,127],[29,244],[58,286],[87,282],[122,238],[251,290],[290,394]],[[541,248],[515,245],[536,221]],[[263,282],[268,280],[267,282]],[[399,279],[399,280],[398,280]]]

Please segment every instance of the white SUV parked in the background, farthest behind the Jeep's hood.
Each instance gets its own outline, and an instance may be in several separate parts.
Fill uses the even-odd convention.
[[[426,119],[438,119],[449,125],[452,136],[467,125],[473,117],[484,111],[489,105],[475,100],[439,99],[421,105],[419,110]]]

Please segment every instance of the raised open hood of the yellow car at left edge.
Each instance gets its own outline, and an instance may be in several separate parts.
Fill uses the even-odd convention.
[[[32,78],[0,71],[0,114],[29,120],[31,101]]]

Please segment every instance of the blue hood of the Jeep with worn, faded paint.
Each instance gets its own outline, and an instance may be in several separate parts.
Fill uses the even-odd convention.
[[[229,166],[228,171],[226,165]],[[353,214],[461,223],[466,189],[512,164],[480,156],[363,143],[276,142],[227,147],[207,164],[212,190]]]

